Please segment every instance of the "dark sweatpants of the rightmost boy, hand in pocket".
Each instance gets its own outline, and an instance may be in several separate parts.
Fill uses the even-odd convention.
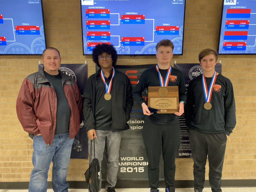
[[[201,192],[205,183],[205,164],[208,155],[209,183],[213,192],[221,190],[222,167],[227,143],[226,133],[203,133],[188,128],[194,160],[194,188]]]

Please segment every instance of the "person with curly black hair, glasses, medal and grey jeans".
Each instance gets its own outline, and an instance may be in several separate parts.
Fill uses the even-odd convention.
[[[88,78],[84,88],[84,126],[88,138],[94,139],[95,158],[99,160],[100,168],[106,141],[108,165],[105,189],[115,192],[121,132],[130,129],[127,121],[133,106],[132,87],[127,75],[114,69],[117,52],[113,45],[96,45],[92,59],[100,69]],[[88,141],[89,151],[90,143]],[[101,173],[99,191],[100,188]]]

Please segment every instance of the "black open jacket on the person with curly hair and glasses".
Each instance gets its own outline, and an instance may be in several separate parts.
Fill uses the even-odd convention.
[[[102,81],[99,69],[91,75],[85,85],[83,94],[83,113],[84,126],[86,132],[95,129],[95,90],[96,82]],[[111,87],[112,96],[112,131],[124,131],[130,129],[127,121],[130,119],[130,113],[133,106],[133,96],[131,82],[127,75],[122,72],[115,71],[115,77],[112,80]]]

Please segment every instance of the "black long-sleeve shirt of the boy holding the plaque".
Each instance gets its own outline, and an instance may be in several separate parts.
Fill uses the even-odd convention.
[[[159,69],[163,79],[165,79],[168,69]],[[141,74],[139,82],[137,83],[135,89],[133,90],[134,100],[141,105],[145,102],[142,98],[142,92],[145,88],[152,86],[160,86],[158,71],[156,67],[151,67],[146,69]],[[179,88],[179,102],[186,102],[186,88],[183,74],[172,67],[171,76],[168,81],[168,86],[178,86]],[[178,116],[172,113],[154,113],[152,115],[145,115],[145,119],[153,121],[158,124],[170,124],[178,121]]]

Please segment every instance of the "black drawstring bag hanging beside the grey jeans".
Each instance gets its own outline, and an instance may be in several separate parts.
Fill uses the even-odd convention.
[[[99,160],[95,158],[95,141],[93,140],[94,159],[92,157],[92,140],[90,148],[90,161],[89,168],[84,173],[85,181],[88,184],[90,192],[98,192],[100,186],[100,164]]]

